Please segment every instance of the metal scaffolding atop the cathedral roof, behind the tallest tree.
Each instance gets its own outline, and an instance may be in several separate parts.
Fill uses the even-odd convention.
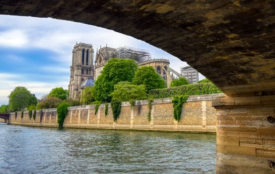
[[[138,63],[151,59],[151,54],[148,50],[143,50],[133,47],[119,47],[117,49],[117,58],[119,59],[134,59]]]

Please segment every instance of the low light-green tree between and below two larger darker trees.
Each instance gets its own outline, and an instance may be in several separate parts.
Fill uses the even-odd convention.
[[[110,94],[112,99],[121,101],[146,99],[144,85],[132,85],[130,82],[119,82],[115,85],[115,90]]]

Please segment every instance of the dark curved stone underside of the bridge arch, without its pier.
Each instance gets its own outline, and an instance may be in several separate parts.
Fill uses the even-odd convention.
[[[227,95],[275,92],[274,0],[2,0],[0,14],[112,29],[186,61]]]

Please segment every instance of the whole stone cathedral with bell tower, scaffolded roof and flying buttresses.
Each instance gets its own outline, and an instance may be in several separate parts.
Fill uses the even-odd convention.
[[[69,98],[80,100],[82,89],[94,86],[95,80],[100,75],[104,65],[111,58],[134,59],[138,66],[152,66],[156,72],[166,81],[170,87],[173,74],[180,76],[169,67],[170,61],[166,59],[151,59],[147,50],[132,47],[120,47],[118,49],[103,47],[96,50],[93,64],[94,49],[91,44],[77,43],[72,49],[72,61],[70,66]]]

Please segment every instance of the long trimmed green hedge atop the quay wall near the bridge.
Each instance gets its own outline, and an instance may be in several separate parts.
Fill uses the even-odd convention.
[[[222,91],[212,83],[200,83],[164,89],[152,89],[149,90],[148,93],[153,98],[167,98],[175,95],[203,95],[211,93],[222,93]]]

